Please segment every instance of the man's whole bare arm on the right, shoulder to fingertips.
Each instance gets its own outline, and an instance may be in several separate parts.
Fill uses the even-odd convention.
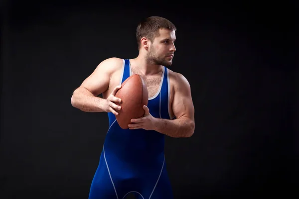
[[[187,79],[176,74],[173,87],[172,111],[175,119],[155,118],[149,113],[149,108],[144,117],[132,119],[134,124],[129,124],[130,129],[144,128],[155,130],[170,137],[191,137],[194,133],[194,105],[191,97],[191,89]]]

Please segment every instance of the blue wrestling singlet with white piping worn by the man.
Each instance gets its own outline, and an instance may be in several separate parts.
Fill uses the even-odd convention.
[[[130,60],[123,60],[120,84],[132,75]],[[149,98],[153,117],[170,119],[169,77],[163,67],[161,83]],[[100,162],[91,183],[89,199],[172,199],[164,158],[164,134],[145,129],[122,129],[112,112]]]

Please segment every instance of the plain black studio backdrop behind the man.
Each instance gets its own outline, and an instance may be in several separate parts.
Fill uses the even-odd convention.
[[[171,70],[195,106],[194,135],[166,137],[175,198],[292,192],[294,5],[184,3],[3,1],[1,199],[88,198],[108,117],[72,107],[72,92],[104,59],[137,56],[135,29],[150,15],[177,26]]]

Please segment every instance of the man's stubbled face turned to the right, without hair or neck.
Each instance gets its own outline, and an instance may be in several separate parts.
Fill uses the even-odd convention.
[[[149,46],[147,59],[149,63],[171,66],[175,52],[175,31],[160,29],[159,36],[155,37]]]

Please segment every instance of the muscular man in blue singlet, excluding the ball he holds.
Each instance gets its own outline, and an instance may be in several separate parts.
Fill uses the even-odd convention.
[[[164,136],[190,137],[194,107],[188,81],[171,66],[176,27],[162,17],[148,17],[137,27],[139,55],[135,59],[109,58],[83,81],[71,98],[86,112],[108,112],[109,129],[89,199],[172,199],[164,159]],[[122,82],[133,74],[143,77],[149,92],[145,115],[122,129],[115,115],[121,101],[115,97]],[[103,98],[98,97],[100,94]]]

